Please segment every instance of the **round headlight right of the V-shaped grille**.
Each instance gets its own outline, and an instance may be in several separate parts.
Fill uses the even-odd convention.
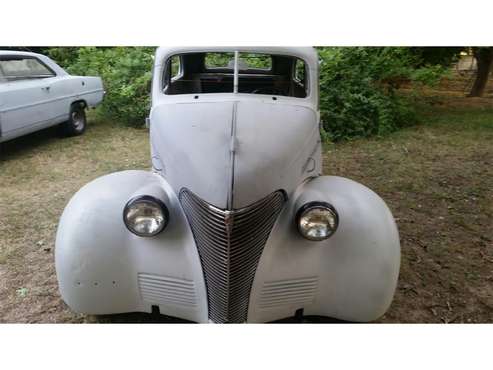
[[[310,202],[298,210],[296,224],[303,237],[320,241],[334,234],[339,224],[339,216],[329,203]]]

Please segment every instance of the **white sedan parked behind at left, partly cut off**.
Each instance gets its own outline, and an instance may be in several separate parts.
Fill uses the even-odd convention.
[[[86,128],[85,108],[104,96],[99,77],[71,76],[47,56],[0,50],[0,142],[50,126]]]

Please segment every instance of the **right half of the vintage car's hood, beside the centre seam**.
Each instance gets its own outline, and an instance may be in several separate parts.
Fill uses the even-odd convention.
[[[321,173],[320,134],[313,109],[275,101],[240,101],[236,112],[233,208],[283,189],[290,196]]]

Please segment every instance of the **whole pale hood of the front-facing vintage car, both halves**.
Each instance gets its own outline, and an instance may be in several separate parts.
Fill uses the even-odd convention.
[[[276,190],[289,195],[320,172],[312,109],[286,103],[162,104],[151,111],[151,150],[178,193],[187,188],[221,209],[238,209]]]

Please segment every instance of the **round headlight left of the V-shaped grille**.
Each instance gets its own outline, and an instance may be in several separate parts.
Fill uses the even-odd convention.
[[[138,236],[154,236],[164,230],[169,221],[166,205],[150,195],[130,199],[123,210],[123,221]]]

